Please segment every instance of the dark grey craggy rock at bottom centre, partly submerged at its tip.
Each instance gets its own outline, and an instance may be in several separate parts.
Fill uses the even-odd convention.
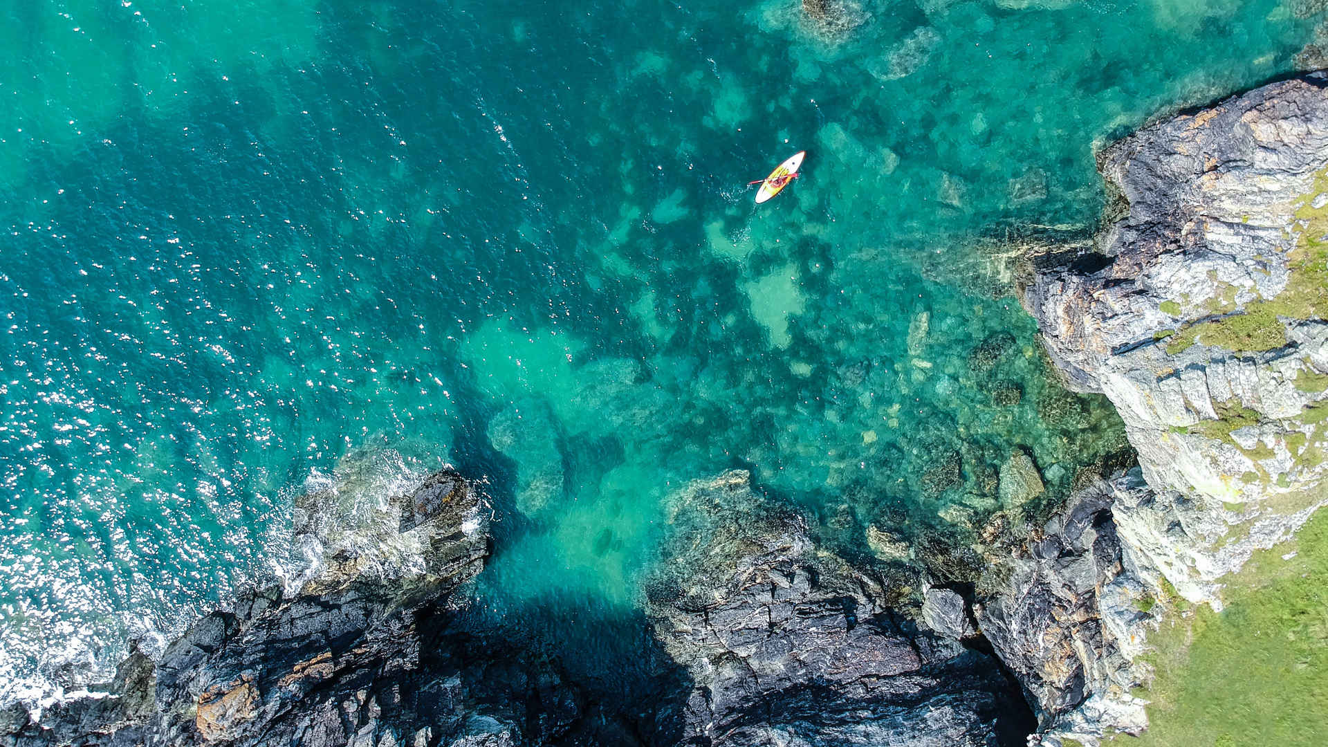
[[[1032,724],[988,655],[919,630],[817,550],[745,472],[673,496],[647,613],[692,678],[683,744],[1021,743]]]

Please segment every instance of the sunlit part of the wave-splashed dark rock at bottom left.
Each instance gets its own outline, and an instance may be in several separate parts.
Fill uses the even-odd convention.
[[[441,736],[448,719],[437,710],[449,696],[459,704],[466,685],[421,667],[422,641],[483,566],[487,505],[459,475],[438,472],[394,501],[393,516],[371,521],[369,537],[394,533],[380,552],[343,542],[348,534],[313,505],[319,496],[329,493],[299,501],[300,540],[328,554],[295,595],[247,593],[158,662],[135,651],[116,682],[56,703],[0,743],[377,746],[408,743],[414,730],[402,724],[437,724]]]

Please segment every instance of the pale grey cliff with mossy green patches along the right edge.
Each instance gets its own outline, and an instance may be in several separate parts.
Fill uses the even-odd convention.
[[[1118,219],[1035,257],[1024,294],[1157,490],[1114,508],[1125,544],[1190,601],[1328,500],[1325,86],[1275,82],[1109,146]]]

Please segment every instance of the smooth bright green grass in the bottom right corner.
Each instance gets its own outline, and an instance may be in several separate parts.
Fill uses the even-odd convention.
[[[1296,557],[1282,556],[1296,549]],[[1202,607],[1150,635],[1157,669],[1139,695],[1138,747],[1324,743],[1328,723],[1328,512],[1231,577],[1222,614]]]

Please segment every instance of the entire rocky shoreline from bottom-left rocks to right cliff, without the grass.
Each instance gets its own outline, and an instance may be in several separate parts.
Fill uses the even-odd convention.
[[[114,682],[7,706],[0,744],[1060,747],[1146,728],[1149,631],[1181,599],[1219,605],[1224,574],[1328,502],[1328,76],[1178,114],[1098,163],[1104,227],[1029,242],[1023,299],[1069,384],[1121,412],[1137,467],[1104,464],[1049,510],[1016,449],[971,541],[874,528],[859,554],[744,471],[675,486],[622,679],[470,609],[501,541],[470,476],[434,473],[353,529],[312,492],[304,573]]]

